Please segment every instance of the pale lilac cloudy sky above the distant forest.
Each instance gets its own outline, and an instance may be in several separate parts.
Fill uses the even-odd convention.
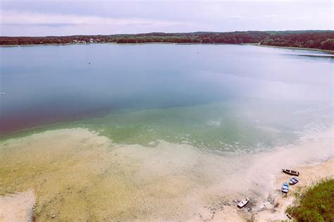
[[[0,0],[1,36],[333,30],[332,0]]]

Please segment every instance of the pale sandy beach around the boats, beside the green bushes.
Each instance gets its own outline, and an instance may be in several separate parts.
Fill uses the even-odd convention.
[[[245,209],[237,209],[236,204],[226,207],[226,210],[218,212],[214,215],[211,221],[293,221],[287,218],[286,209],[294,206],[299,202],[300,195],[305,190],[313,187],[323,180],[334,178],[334,158],[320,161],[318,163],[300,164],[296,166],[300,171],[299,183],[290,185],[290,190],[286,196],[280,192],[280,187],[283,182],[287,182],[292,178],[292,175],[279,173],[273,182],[273,190],[268,195],[268,199],[264,202],[257,202],[252,205],[252,211]],[[321,174],[318,174],[321,171]],[[298,196],[298,197],[297,197]],[[245,206],[247,208],[247,205]],[[232,215],[232,216],[231,216]]]

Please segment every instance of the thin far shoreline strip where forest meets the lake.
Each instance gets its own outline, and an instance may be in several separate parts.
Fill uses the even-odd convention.
[[[0,45],[0,47],[40,47],[40,46],[66,46],[66,45],[88,45],[88,44],[118,44],[118,45],[137,45],[137,44],[203,44],[203,45],[215,45],[215,44],[228,44],[228,43],[178,43],[178,42],[142,42],[142,43],[117,43],[117,42],[104,42],[104,43],[63,43],[63,44],[13,44],[13,45]],[[305,48],[305,47],[280,47],[280,46],[272,46],[265,45],[259,43],[241,43],[241,44],[230,44],[230,45],[252,45],[256,47],[272,47],[278,49],[299,49],[299,50],[307,50],[307,51],[321,51],[329,54],[334,54],[334,50],[327,49],[316,49],[316,48]]]

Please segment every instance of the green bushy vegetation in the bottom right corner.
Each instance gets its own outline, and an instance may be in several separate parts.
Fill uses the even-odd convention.
[[[334,221],[334,179],[311,187],[287,212],[297,221]]]

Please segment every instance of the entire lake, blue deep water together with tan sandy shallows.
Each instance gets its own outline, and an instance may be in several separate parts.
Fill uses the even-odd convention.
[[[37,221],[242,221],[289,201],[278,195],[290,179],[281,168],[301,172],[294,192],[333,177],[331,162],[314,164],[333,158],[333,56],[323,52],[82,44],[0,53],[5,211],[23,199]]]

